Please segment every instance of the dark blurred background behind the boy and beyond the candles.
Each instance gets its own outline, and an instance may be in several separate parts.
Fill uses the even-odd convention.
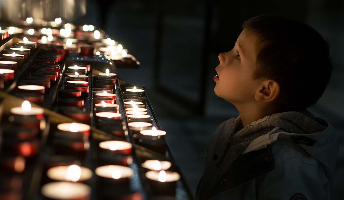
[[[127,83],[146,85],[161,127],[168,132],[166,138],[174,156],[194,191],[203,172],[210,137],[221,122],[238,116],[233,105],[214,94],[218,54],[231,50],[241,24],[259,14],[277,14],[311,25],[329,41],[334,70],[322,98],[309,110],[329,121],[340,136],[332,199],[343,199],[340,189],[344,188],[344,1],[0,2],[1,20],[25,19],[28,15],[53,20],[60,15],[76,24],[101,27],[128,49],[140,61],[140,68],[117,69],[118,74]],[[49,12],[35,11],[37,5]],[[8,8],[18,9],[18,13],[9,12]]]

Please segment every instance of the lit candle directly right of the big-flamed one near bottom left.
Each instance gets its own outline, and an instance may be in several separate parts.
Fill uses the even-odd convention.
[[[95,170],[97,176],[105,178],[111,183],[126,185],[130,178],[134,176],[134,171],[130,167],[120,165],[104,165]]]

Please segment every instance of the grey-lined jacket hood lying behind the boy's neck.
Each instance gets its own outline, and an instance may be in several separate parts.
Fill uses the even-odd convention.
[[[315,117],[308,110],[303,110],[266,116],[252,122],[249,127],[276,128],[253,140],[244,153],[264,148],[278,139],[304,136],[314,144],[298,143],[298,145],[324,166],[327,178],[332,180],[338,154],[338,137],[329,122]]]

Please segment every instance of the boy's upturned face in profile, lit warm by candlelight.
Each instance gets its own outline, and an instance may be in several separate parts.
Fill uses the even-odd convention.
[[[214,91],[234,105],[255,101],[255,93],[261,83],[251,78],[256,66],[256,40],[255,35],[244,30],[234,48],[218,56],[220,63],[215,68]]]

